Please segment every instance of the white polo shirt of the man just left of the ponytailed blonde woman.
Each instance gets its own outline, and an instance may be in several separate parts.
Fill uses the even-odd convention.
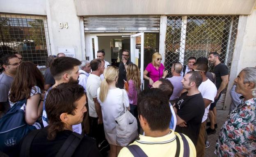
[[[95,104],[94,104],[93,98],[97,98],[97,89],[100,87],[100,85],[101,85],[101,77],[94,74],[90,74],[89,77],[87,78],[87,83],[86,83],[90,117],[98,117],[95,110]]]

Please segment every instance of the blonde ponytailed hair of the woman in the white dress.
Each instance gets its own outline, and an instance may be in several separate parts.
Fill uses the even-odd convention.
[[[103,75],[105,78],[101,82],[100,95],[99,95],[101,102],[104,102],[107,97],[108,85],[117,79],[118,68],[114,66],[108,66],[104,70]]]

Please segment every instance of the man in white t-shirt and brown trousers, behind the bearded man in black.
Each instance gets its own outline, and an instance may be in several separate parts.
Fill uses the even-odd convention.
[[[202,83],[198,87],[205,106],[205,111],[202,119],[202,124],[199,131],[197,140],[197,157],[204,157],[205,150],[205,135],[206,135],[206,119],[209,113],[210,104],[214,102],[215,95],[217,94],[217,88],[215,84],[206,77],[208,65],[205,62],[196,62],[193,65],[193,71],[199,71],[202,75]]]

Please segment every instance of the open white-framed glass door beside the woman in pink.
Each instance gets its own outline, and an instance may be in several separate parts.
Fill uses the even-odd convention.
[[[139,67],[141,89],[144,90],[144,32],[130,36],[130,57],[131,61]]]

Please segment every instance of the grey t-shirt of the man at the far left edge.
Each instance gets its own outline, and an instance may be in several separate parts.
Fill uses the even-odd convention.
[[[13,82],[14,78],[11,76],[2,73],[0,75],[0,102],[4,105],[4,112],[6,113],[7,110],[10,108],[8,102],[8,93],[11,88],[11,83]]]

